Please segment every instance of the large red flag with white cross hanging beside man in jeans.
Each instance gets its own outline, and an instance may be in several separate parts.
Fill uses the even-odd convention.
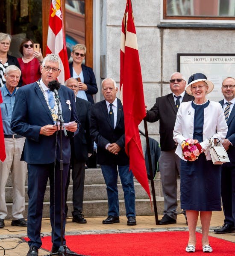
[[[146,116],[135,23],[131,0],[126,1],[120,47],[120,98],[123,101],[126,154],[130,170],[150,197],[138,125]]]

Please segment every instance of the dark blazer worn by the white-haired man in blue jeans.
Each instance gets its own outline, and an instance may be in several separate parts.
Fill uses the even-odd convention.
[[[105,100],[91,106],[90,133],[91,137],[97,143],[97,164],[129,164],[129,158],[125,152],[123,106],[119,99],[115,128],[111,125]],[[118,155],[114,155],[105,149],[108,143],[117,143],[120,146],[121,150],[118,152]]]

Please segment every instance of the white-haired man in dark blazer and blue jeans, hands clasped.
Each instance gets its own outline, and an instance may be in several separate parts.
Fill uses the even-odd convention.
[[[124,116],[118,88],[111,78],[102,82],[105,100],[91,106],[91,137],[97,143],[97,163],[106,183],[109,211],[103,224],[119,223],[118,173],[126,206],[127,225],[136,225],[135,189],[129,158],[125,153]],[[117,170],[118,167],[118,170]]]

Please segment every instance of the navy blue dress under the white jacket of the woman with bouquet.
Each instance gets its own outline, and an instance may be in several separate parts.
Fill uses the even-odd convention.
[[[203,141],[204,109],[209,101],[197,105],[192,101],[194,113],[193,139]],[[206,120],[205,120],[206,122]],[[180,201],[181,209],[195,211],[221,211],[220,201],[221,166],[206,161],[200,154],[195,161],[181,160]]]

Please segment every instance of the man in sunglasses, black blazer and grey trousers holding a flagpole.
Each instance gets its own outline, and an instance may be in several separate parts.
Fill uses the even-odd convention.
[[[192,101],[193,96],[185,92],[185,77],[175,72],[170,77],[172,93],[156,98],[154,106],[147,110],[146,120],[159,120],[161,155],[159,169],[161,173],[162,191],[164,195],[164,216],[160,225],[174,224],[177,218],[177,178],[180,174],[180,158],[175,154],[176,143],[173,140],[173,129],[179,105]]]

